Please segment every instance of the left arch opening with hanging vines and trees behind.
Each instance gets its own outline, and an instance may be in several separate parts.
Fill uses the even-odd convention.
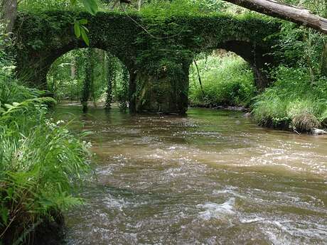
[[[112,103],[126,109],[129,102],[129,70],[112,53],[98,48],[73,49],[50,65],[46,88],[61,102],[78,102],[83,110]]]

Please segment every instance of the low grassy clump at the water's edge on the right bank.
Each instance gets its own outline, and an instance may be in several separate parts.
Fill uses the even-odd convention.
[[[327,79],[313,83],[305,68],[280,66],[274,85],[255,100],[252,114],[263,126],[296,131],[327,126]]]

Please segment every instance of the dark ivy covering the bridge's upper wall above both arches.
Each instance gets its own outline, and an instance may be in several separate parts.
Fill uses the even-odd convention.
[[[73,21],[87,18],[91,46],[116,55],[127,67],[158,71],[160,60],[178,62],[193,53],[218,48],[227,40],[245,40],[269,48],[268,36],[276,33],[278,23],[251,16],[129,16],[121,13],[88,13],[48,11],[44,13],[20,12],[15,33],[18,68],[49,66],[54,58],[74,48],[85,47],[75,38]],[[149,35],[151,33],[151,35]],[[26,66],[24,66],[26,63]],[[25,69],[25,72],[28,69]],[[29,72],[32,72],[29,70]],[[37,72],[37,71],[34,71]]]

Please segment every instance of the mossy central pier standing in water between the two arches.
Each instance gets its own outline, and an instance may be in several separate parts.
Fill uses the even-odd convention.
[[[169,62],[156,72],[139,72],[134,92],[135,112],[185,114],[188,109],[189,62]]]

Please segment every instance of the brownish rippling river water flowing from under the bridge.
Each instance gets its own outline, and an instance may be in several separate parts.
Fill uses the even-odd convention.
[[[80,110],[56,111],[93,132],[97,164],[86,205],[66,215],[67,244],[327,244],[326,136],[235,111]]]

